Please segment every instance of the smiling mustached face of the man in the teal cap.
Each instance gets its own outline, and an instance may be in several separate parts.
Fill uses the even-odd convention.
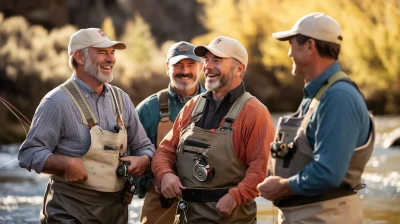
[[[186,96],[194,95],[199,81],[201,63],[190,58],[185,58],[175,64],[167,63],[167,74],[172,88]]]

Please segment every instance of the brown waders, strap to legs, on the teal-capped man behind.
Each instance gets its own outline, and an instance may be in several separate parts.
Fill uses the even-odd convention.
[[[157,127],[156,149],[160,142],[172,129],[173,123],[169,119],[169,99],[168,89],[157,92],[157,99],[160,105],[160,121]],[[154,177],[152,177],[154,179]],[[175,220],[175,208],[162,208],[160,205],[160,195],[155,191],[154,181],[148,186],[142,210],[140,212],[140,223],[163,224],[173,223]]]

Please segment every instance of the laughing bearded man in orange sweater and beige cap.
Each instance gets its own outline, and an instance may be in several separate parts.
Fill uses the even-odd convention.
[[[161,142],[152,170],[166,198],[179,197],[180,223],[256,223],[256,186],[265,178],[274,126],[245,91],[248,54],[220,36],[194,49],[208,90],[191,99]]]

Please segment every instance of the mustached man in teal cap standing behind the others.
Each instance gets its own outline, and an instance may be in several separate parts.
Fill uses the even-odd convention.
[[[168,88],[147,97],[137,106],[144,130],[156,147],[172,129],[173,122],[185,103],[205,91],[199,83],[201,58],[194,55],[194,47],[185,41],[171,45],[165,65],[170,78]],[[151,171],[135,182],[138,197],[146,195],[140,216],[141,223],[173,223],[176,209],[161,207]]]

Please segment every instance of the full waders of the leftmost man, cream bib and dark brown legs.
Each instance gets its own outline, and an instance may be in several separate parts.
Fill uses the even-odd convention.
[[[127,134],[120,114],[123,106],[120,92],[115,87],[110,88],[119,129],[115,133],[97,125],[96,117],[74,81],[68,80],[61,87],[74,100],[82,122],[90,128],[91,145],[82,156],[88,179],[82,183],[66,183],[63,175],[51,175],[41,221],[127,223],[127,204],[122,202],[126,180],[116,174],[119,157],[127,152]]]

